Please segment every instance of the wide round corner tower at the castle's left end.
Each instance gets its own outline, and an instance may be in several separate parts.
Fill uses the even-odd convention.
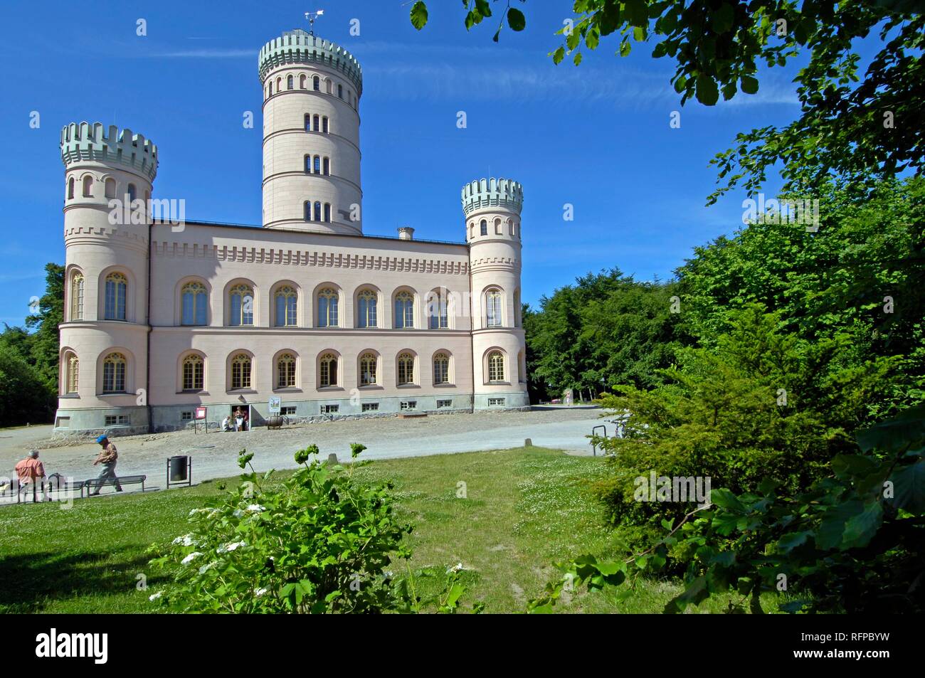
[[[56,430],[148,430],[149,210],[157,147],[130,129],[71,123],[65,166],[65,311]]]

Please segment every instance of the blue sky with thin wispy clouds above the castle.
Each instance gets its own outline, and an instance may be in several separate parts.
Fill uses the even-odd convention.
[[[527,29],[492,43],[495,19],[467,34],[460,3],[431,0],[424,31],[402,0],[255,4],[6,2],[0,69],[6,130],[0,154],[0,323],[21,324],[43,292],[43,265],[63,263],[60,129],[100,121],[157,143],[157,195],[186,200],[189,219],[259,224],[261,88],[256,55],[282,31],[305,28],[364,68],[361,99],[364,229],[463,240],[462,184],[486,176],[524,184],[524,301],[536,303],[589,270],[618,266],[670,277],[695,245],[741,224],[740,193],[705,207],[713,154],[734,133],[796,117],[794,69],[764,73],[759,93],[714,107],[672,90],[672,62],[605,40],[584,63],[549,51],[566,0],[524,5]],[[91,7],[86,6],[86,7]],[[258,8],[259,7],[259,8]],[[500,7],[499,7],[500,8]],[[136,21],[147,21],[147,36]],[[350,35],[352,18],[360,35]],[[457,129],[457,111],[467,129]],[[681,128],[672,129],[672,111]],[[31,111],[41,127],[30,129]],[[253,129],[241,125],[253,111]],[[219,188],[222,187],[222,188]],[[778,185],[767,187],[772,194]],[[574,221],[562,219],[574,205]]]

